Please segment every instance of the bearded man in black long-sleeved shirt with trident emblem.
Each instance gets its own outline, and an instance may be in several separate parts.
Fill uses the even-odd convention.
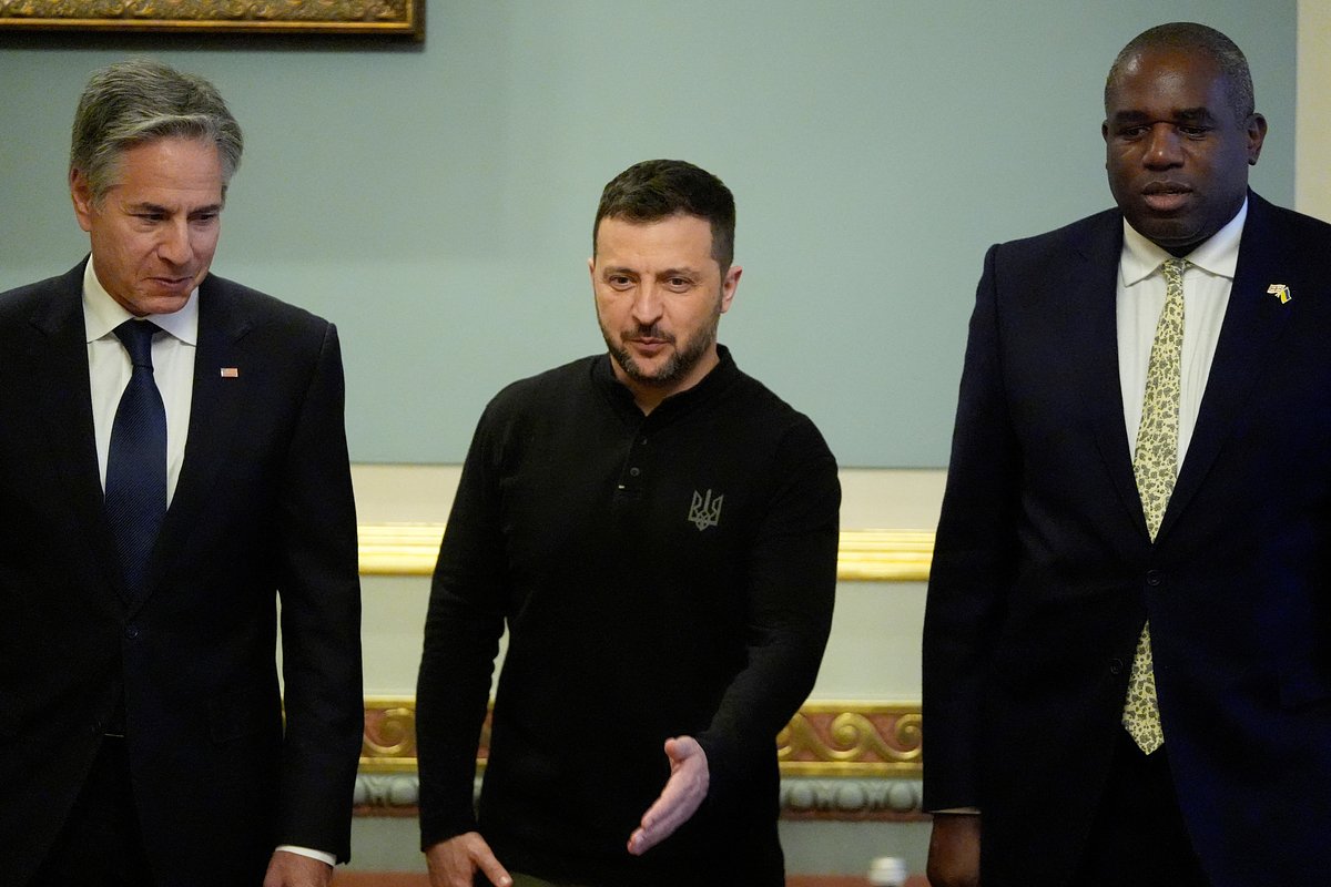
[[[840,488],[808,418],[716,343],[733,231],[691,164],[618,176],[590,259],[608,354],[480,419],[418,686],[433,884],[784,883],[773,743],[827,642]]]

